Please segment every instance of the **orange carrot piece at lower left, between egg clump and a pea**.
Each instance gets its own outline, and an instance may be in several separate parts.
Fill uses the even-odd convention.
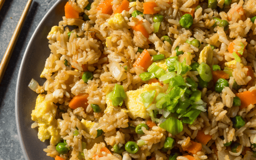
[[[69,107],[72,109],[76,109],[78,107],[83,107],[86,110],[86,104],[87,103],[87,97],[88,94],[80,94],[77,96],[74,96],[72,100],[69,102]]]

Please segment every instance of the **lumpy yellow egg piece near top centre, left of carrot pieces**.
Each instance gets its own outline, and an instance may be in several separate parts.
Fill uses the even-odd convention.
[[[125,28],[127,26],[124,18],[121,14],[114,14],[114,17],[108,19],[108,24],[113,28],[113,30],[118,30]]]

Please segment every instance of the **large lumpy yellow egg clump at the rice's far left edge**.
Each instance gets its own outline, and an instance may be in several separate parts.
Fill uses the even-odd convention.
[[[50,143],[56,145],[60,141],[60,130],[55,119],[57,106],[52,102],[45,101],[45,95],[38,95],[36,107],[32,111],[31,119],[38,122],[38,138],[44,142],[50,139]]]

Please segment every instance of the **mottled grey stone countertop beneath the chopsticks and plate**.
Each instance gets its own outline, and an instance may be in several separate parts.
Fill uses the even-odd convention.
[[[37,25],[57,0],[33,0],[26,21],[0,84],[0,160],[25,160],[15,122],[15,88],[21,60]],[[27,0],[5,0],[0,11],[0,60],[27,4]]]

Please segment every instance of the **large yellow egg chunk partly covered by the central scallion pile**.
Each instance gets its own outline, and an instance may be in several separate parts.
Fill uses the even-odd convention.
[[[128,109],[128,115],[135,119],[137,117],[148,119],[149,113],[146,111],[146,108],[144,107],[143,103],[140,101],[140,94],[142,94],[145,91],[156,91],[156,96],[163,92],[164,89],[159,85],[159,83],[152,83],[150,85],[145,84],[144,88],[137,89],[135,91],[127,91],[126,92],[126,107]]]

